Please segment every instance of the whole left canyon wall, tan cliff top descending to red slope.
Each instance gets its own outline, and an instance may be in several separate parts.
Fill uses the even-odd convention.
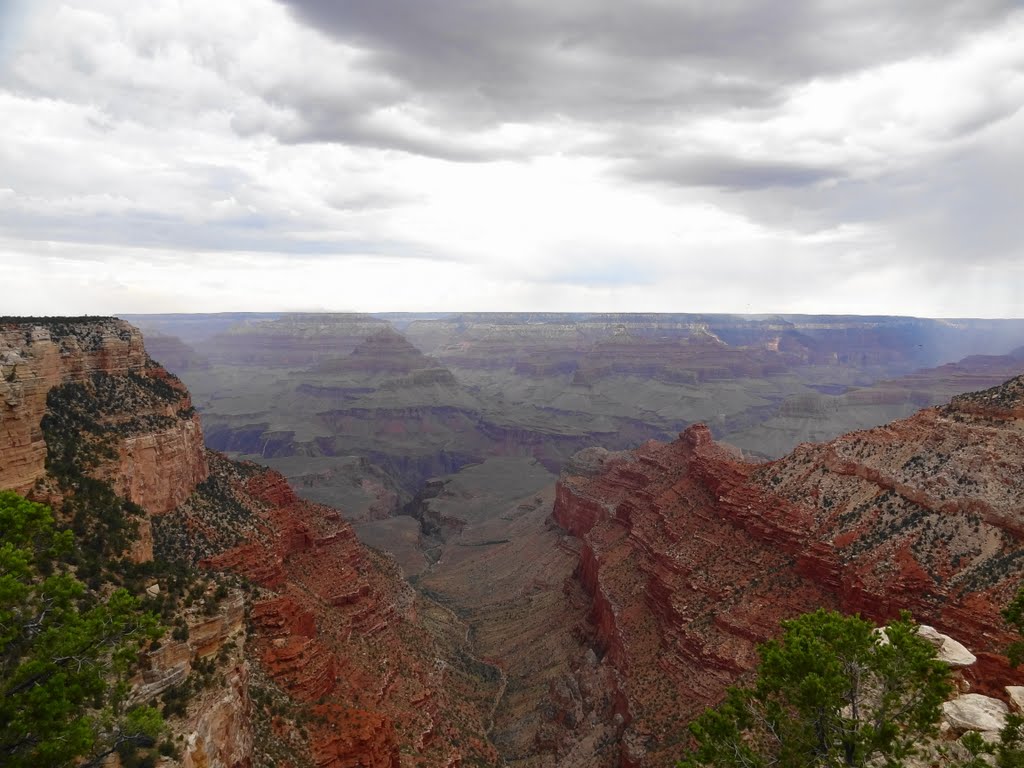
[[[272,680],[286,711],[312,710],[295,743],[319,766],[498,762],[485,725],[496,681],[425,626],[426,601],[337,510],[300,500],[276,472],[206,451],[188,392],[147,358],[137,331],[114,319],[4,323],[0,396],[0,487],[60,502],[76,478],[109,480],[147,513],[133,554],[158,550],[151,595],[171,560],[255,585],[229,589],[210,614],[182,608],[186,639],[154,647],[135,680],[138,700],[153,700],[198,658],[218,659],[215,683],[172,719],[177,765],[261,759],[270,736],[257,727],[266,710],[250,695],[253,678],[264,693]],[[452,634],[466,634],[455,617]],[[279,720],[271,730],[291,727]]]

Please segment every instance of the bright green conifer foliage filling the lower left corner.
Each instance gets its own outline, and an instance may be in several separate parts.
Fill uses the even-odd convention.
[[[99,765],[152,746],[162,720],[126,705],[138,651],[163,634],[125,589],[76,575],[49,508],[0,492],[0,762]]]

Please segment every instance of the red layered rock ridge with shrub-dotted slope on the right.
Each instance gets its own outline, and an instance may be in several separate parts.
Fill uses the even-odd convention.
[[[818,606],[908,609],[1012,682],[999,608],[1024,574],[1024,383],[751,464],[703,426],[630,454],[590,451],[554,517],[621,674],[624,765],[678,757],[682,727],[757,663],[778,622]]]

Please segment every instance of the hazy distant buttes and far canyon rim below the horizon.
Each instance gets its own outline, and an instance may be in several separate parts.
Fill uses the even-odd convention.
[[[694,422],[753,455],[781,456],[799,440],[830,439],[1001,381],[1002,362],[978,355],[934,376],[912,372],[944,355],[1001,352],[1024,339],[1017,322],[908,317],[245,314],[138,322],[146,333],[165,334],[158,342],[179,334],[211,360],[199,368],[168,348],[203,412],[210,447],[281,470],[300,494],[342,508],[353,521],[395,514],[430,477],[488,457],[529,456],[557,472],[587,445],[671,439]],[[905,381],[891,378],[902,375]],[[880,379],[886,387],[865,388]]]

